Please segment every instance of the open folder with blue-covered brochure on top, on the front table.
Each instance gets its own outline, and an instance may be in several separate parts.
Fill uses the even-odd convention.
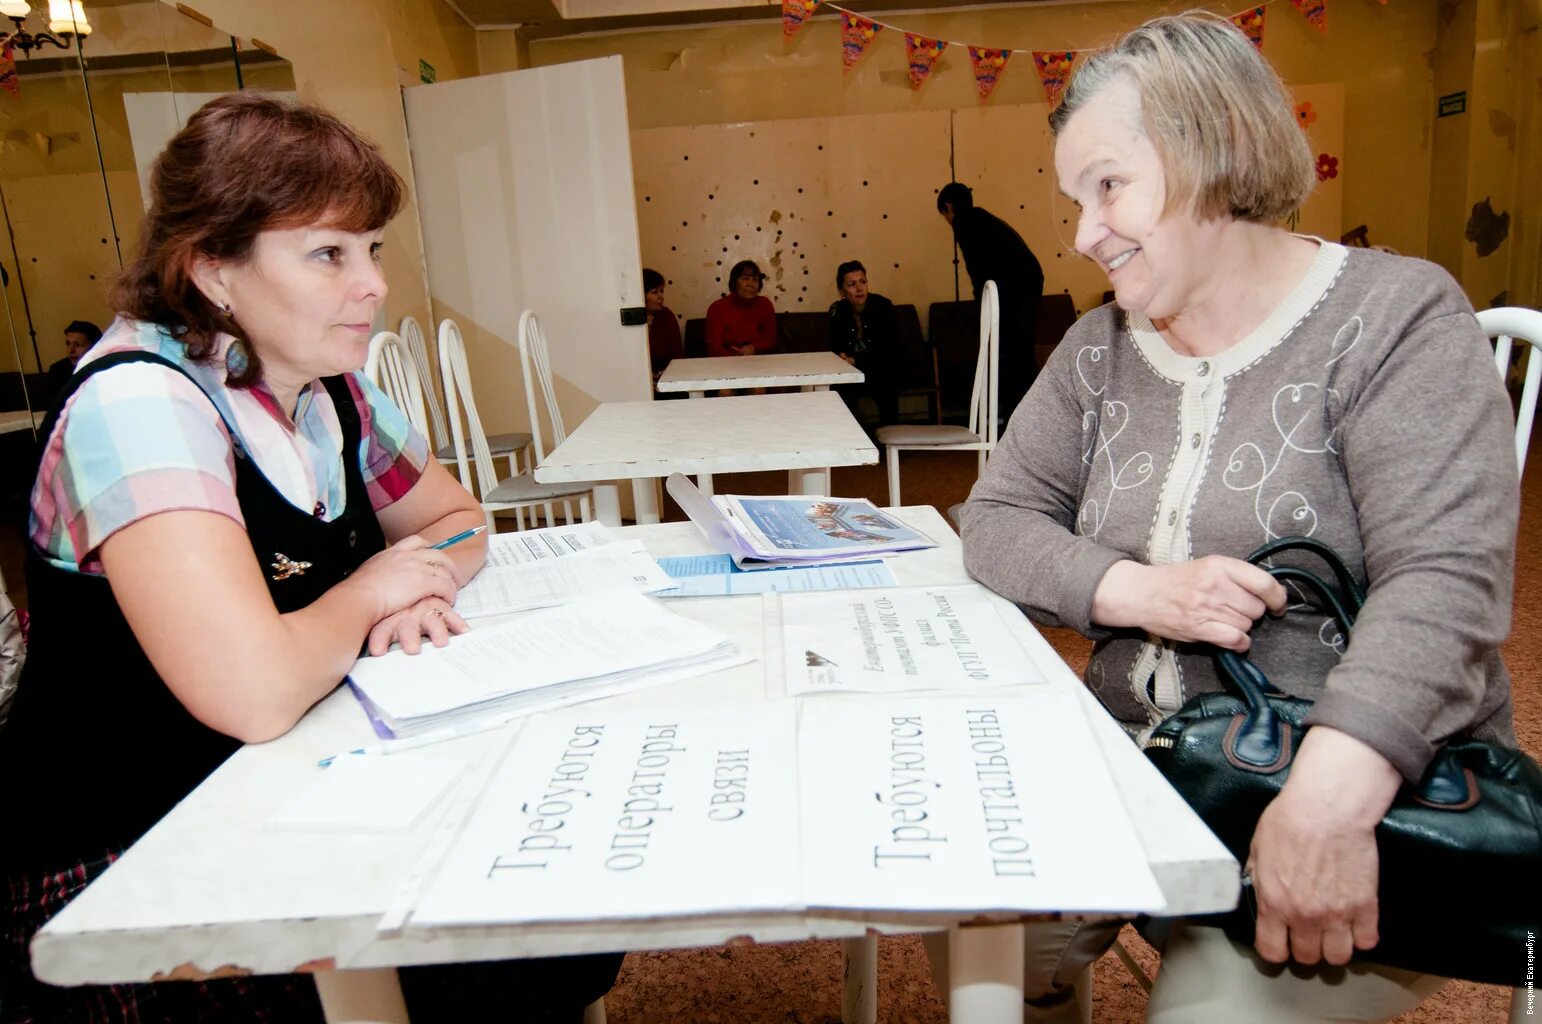
[[[870,560],[887,551],[936,547],[865,498],[813,495],[708,500],[686,477],[665,484],[706,541],[743,569]]]

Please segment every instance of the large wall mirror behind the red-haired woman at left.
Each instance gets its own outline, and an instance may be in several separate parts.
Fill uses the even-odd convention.
[[[295,76],[259,40],[157,0],[0,0],[0,31],[14,60],[14,72],[0,60],[3,441],[29,435],[68,376],[66,327],[111,322],[108,285],[167,139],[214,96],[293,94]],[[17,446],[3,450],[14,463]],[[23,475],[8,467],[8,497]]]

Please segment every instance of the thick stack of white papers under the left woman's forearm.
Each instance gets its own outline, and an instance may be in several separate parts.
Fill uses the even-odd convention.
[[[748,659],[723,634],[641,594],[609,591],[455,637],[359,659],[348,679],[376,733],[404,737],[487,716],[594,700]]]

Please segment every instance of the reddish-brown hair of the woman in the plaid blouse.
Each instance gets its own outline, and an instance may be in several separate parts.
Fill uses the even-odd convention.
[[[236,93],[210,100],[156,157],[150,213],[134,262],[113,288],[125,316],[177,333],[188,356],[213,358],[221,332],[248,342],[193,284],[199,258],[242,262],[262,231],[325,225],[376,231],[401,210],[404,185],[375,143],[316,106]],[[262,376],[258,353],[228,382]]]

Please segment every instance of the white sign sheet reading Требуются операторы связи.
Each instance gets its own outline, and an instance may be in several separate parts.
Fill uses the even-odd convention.
[[[415,925],[790,910],[791,705],[532,717]]]

